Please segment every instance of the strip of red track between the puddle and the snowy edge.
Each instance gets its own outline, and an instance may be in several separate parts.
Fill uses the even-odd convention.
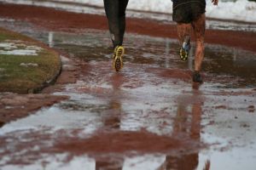
[[[30,21],[49,30],[69,31],[76,29],[107,30],[106,17],[92,14],[74,14],[52,8],[30,7],[26,5],[0,4],[0,16],[15,20]],[[175,26],[153,20],[128,19],[127,32],[154,37],[177,38]],[[256,33],[242,31],[207,30],[206,42],[243,48],[256,52]]]

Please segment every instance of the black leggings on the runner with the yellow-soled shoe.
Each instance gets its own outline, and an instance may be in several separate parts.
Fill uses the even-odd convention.
[[[113,48],[123,44],[125,10],[129,0],[103,0]]]

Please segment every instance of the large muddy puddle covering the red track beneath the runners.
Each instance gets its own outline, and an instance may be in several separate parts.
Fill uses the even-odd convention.
[[[81,73],[55,93],[70,99],[0,128],[1,169],[255,168],[255,54],[207,44],[192,88],[193,55],[180,61],[177,40],[127,34],[115,73],[108,31],[22,27]]]

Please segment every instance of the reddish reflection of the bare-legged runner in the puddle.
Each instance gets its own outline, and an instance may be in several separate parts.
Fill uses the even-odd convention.
[[[187,100],[192,101],[191,109]],[[201,131],[201,106],[203,105],[202,96],[184,96],[178,99],[177,116],[173,122],[172,136],[182,136],[183,138],[200,143]],[[191,111],[189,111],[191,110]],[[183,156],[166,156],[166,162],[158,170],[192,170],[198,166],[198,152],[189,153]],[[206,162],[204,170],[210,169],[210,161]]]

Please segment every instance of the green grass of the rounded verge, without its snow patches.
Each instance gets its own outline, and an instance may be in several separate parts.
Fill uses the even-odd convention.
[[[43,48],[38,56],[0,54],[0,92],[26,94],[38,91],[45,82],[53,79],[61,69],[59,55],[41,42],[0,28],[0,42],[21,40],[27,45]],[[38,66],[22,66],[20,63],[35,63]]]

